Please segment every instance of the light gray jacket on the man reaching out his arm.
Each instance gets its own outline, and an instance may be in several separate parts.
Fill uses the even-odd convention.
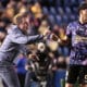
[[[24,35],[17,27],[12,28],[0,47],[0,62],[13,62],[20,50],[26,52],[25,45],[41,40],[44,36]]]

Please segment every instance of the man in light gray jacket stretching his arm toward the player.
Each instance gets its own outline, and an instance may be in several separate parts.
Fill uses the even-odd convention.
[[[0,47],[0,77],[8,87],[20,87],[18,78],[13,66],[13,60],[20,52],[26,54],[26,44],[34,44],[44,39],[42,35],[28,36],[29,15],[24,13],[16,17],[17,26],[10,28]]]

